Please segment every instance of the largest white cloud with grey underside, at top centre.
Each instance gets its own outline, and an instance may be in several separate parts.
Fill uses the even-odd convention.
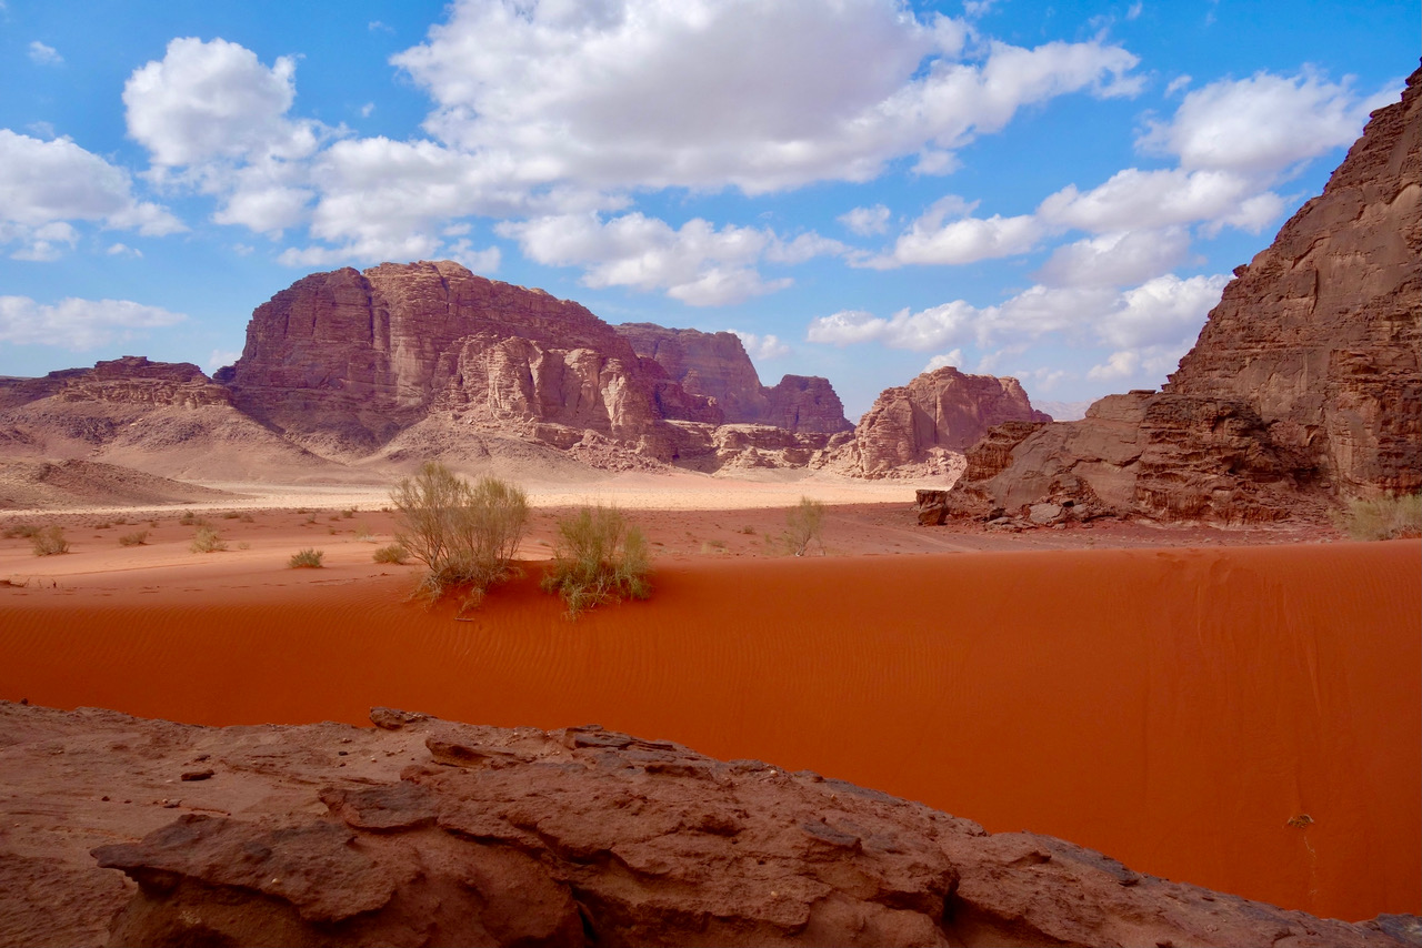
[[[464,0],[392,61],[435,99],[425,126],[442,142],[593,189],[869,181],[1024,105],[1139,88],[1118,45],[985,43],[966,58],[967,36],[893,0]]]

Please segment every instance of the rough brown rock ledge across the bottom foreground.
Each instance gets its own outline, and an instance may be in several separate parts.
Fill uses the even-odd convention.
[[[371,721],[0,702],[0,944],[1422,944],[758,760]]]

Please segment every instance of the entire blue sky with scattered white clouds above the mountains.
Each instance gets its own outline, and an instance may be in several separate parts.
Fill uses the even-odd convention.
[[[210,372],[307,273],[448,257],[850,418],[941,364],[1153,387],[1418,40],[1412,0],[0,0],[0,375]]]

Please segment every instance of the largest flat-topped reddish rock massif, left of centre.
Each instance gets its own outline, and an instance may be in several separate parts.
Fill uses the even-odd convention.
[[[665,455],[664,412],[718,421],[663,392],[610,325],[569,300],[451,262],[317,273],[257,307],[222,377],[243,411],[320,453],[361,455],[431,411],[518,433],[556,425]]]

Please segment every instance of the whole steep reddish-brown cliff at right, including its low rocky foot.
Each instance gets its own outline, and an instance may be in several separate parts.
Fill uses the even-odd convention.
[[[994,431],[948,506],[1237,523],[1422,488],[1419,139],[1422,70],[1324,193],[1236,269],[1163,391]]]

